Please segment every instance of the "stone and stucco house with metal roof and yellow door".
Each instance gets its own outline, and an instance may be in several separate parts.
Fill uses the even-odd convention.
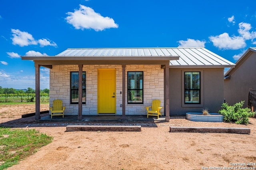
[[[159,99],[166,121],[224,102],[224,67],[234,63],[205,49],[84,48],[55,56],[22,56],[36,71],[36,120],[40,119],[40,67],[50,68],[50,106],[61,99],[65,115],[146,115]],[[82,93],[81,93],[82,92]]]

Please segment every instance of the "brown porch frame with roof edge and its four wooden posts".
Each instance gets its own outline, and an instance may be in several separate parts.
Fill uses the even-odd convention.
[[[36,121],[41,119],[40,117],[40,67],[47,67],[52,69],[55,65],[77,65],[78,66],[78,114],[77,120],[86,119],[86,115],[82,115],[83,103],[82,103],[82,73],[84,65],[120,65],[122,67],[122,91],[125,92],[126,87],[126,66],[127,65],[160,65],[164,71],[164,119],[170,120],[170,107],[169,107],[169,65],[170,60],[179,59],[178,56],[104,56],[93,55],[85,56],[78,53],[75,55],[66,55],[66,53],[60,53],[56,56],[23,56],[24,60],[33,60],[35,64],[35,79],[36,79]],[[122,115],[116,115],[121,117],[122,120],[128,119],[128,111],[126,110],[126,93],[122,93]],[[116,106],[119,107],[119,106]],[[146,113],[146,110],[145,110]],[[65,117],[65,116],[64,116]]]

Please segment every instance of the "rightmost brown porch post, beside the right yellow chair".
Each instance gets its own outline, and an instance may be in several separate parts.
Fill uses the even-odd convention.
[[[170,83],[169,83],[169,66],[164,65],[164,113],[165,120],[170,121]]]

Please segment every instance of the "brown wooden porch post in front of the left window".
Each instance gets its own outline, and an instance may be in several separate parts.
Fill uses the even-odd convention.
[[[82,120],[83,65],[78,65],[78,120]]]

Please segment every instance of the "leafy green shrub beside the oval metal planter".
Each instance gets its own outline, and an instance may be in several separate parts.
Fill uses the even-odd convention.
[[[249,117],[253,117],[256,112],[249,108],[242,108],[244,101],[229,106],[228,103],[222,103],[222,109],[219,111],[224,116],[225,122],[234,122],[236,124],[248,124]]]

